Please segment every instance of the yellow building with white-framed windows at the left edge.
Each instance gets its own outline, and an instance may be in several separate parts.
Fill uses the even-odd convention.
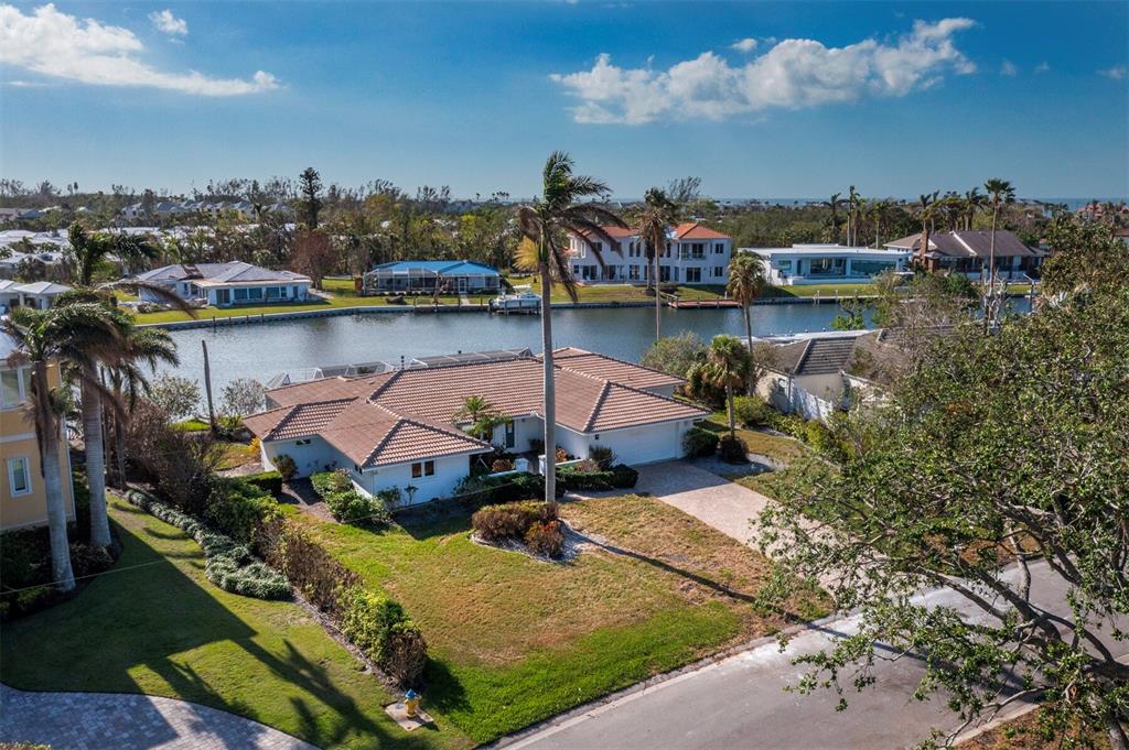
[[[40,448],[35,440],[28,394],[32,370],[7,361],[12,346],[0,337],[0,530],[47,522],[47,496],[43,486]],[[47,377],[59,385],[59,368]],[[63,442],[61,467],[67,518],[75,519],[75,489],[70,478],[70,453]]]

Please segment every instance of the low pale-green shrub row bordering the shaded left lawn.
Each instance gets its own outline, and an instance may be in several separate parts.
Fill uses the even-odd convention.
[[[181,529],[204,553],[204,574],[212,584],[225,591],[255,599],[286,599],[290,595],[290,584],[278,571],[257,563],[251,550],[227,535],[212,531],[202,522],[186,513],[170,508],[151,495],[133,489],[126,500],[166,523]]]

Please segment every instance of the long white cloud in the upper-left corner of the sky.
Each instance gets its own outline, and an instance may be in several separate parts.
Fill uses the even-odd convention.
[[[157,70],[138,59],[142,52],[141,39],[128,28],[79,19],[54,5],[28,16],[15,6],[0,5],[0,64],[79,83],[142,86],[199,96],[239,96],[279,87],[264,71],[248,80]]]

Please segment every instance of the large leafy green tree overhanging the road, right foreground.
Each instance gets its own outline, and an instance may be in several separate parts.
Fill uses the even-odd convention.
[[[858,618],[800,658],[803,689],[830,686],[846,705],[876,660],[912,654],[926,672],[914,697],[944,690],[964,726],[1039,700],[1045,739],[1097,730],[1129,747],[1129,665],[1111,651],[1129,637],[1129,247],[1069,226],[1059,238],[1074,250],[1053,303],[991,336],[936,338],[855,417],[842,464],[791,473],[761,517],[779,572],[767,601],[790,576],[817,577]],[[1073,267],[1099,253],[1100,275]],[[929,588],[978,616],[914,597]]]

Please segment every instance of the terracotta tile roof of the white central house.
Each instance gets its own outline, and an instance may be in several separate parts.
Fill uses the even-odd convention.
[[[598,432],[706,416],[641,390],[677,378],[584,350],[560,350],[558,358],[561,426]],[[314,380],[268,391],[278,407],[245,422],[264,441],[321,435],[358,465],[481,452],[489,444],[453,424],[464,399],[481,396],[510,416],[541,416],[542,367],[537,358],[518,356]]]

